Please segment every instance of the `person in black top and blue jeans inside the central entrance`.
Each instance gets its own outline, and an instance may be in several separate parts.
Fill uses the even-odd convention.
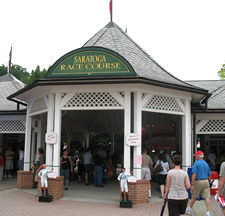
[[[96,187],[104,187],[102,185],[104,159],[101,157],[101,151],[98,149],[94,158],[95,164],[95,180]]]

